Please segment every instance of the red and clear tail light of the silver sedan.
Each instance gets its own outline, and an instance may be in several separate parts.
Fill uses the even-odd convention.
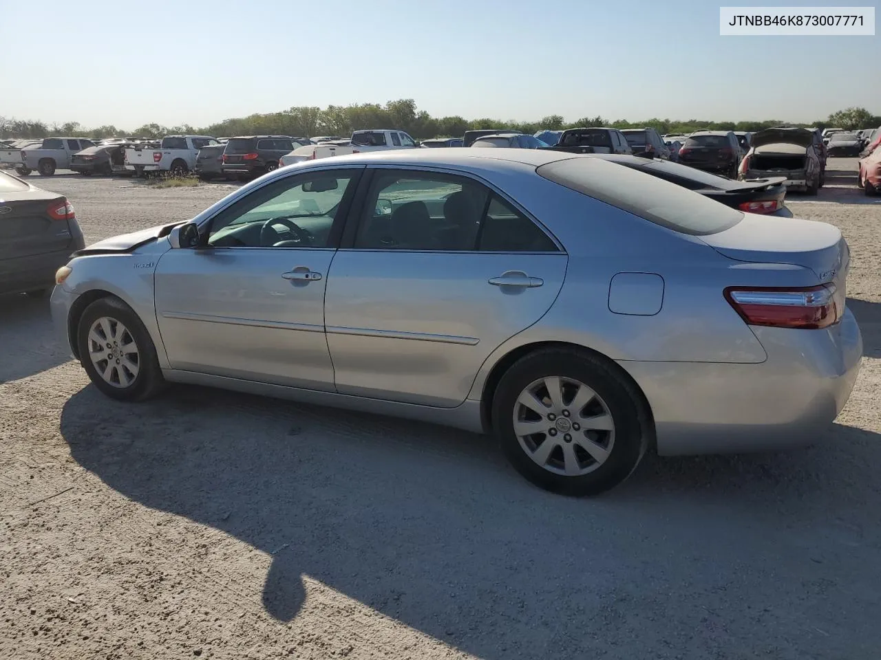
[[[817,330],[840,320],[844,306],[835,304],[835,285],[778,289],[729,287],[725,299],[750,326]]]

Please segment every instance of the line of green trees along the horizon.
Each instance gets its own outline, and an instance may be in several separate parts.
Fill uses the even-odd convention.
[[[278,113],[250,114],[247,117],[227,119],[204,127],[189,124],[162,126],[157,123],[144,124],[133,130],[115,126],[88,128],[76,121],[63,124],[47,124],[44,121],[21,121],[0,117],[0,138],[10,137],[162,137],[167,135],[196,134],[216,137],[247,135],[284,136],[350,136],[359,128],[398,128],[405,130],[418,140],[430,137],[461,137],[466,130],[476,128],[506,128],[523,133],[536,133],[539,130],[561,130],[565,128],[608,126],[613,128],[657,129],[662,135],[667,133],[691,133],[695,130],[742,130],[757,131],[762,128],[779,126],[816,126],[818,128],[877,128],[881,126],[881,116],[873,115],[862,107],[848,107],[830,114],[825,120],[811,124],[791,123],[781,120],[767,121],[687,121],[658,119],[653,117],[643,121],[622,119],[609,121],[601,116],[581,117],[566,121],[559,114],[551,114],[538,121],[503,121],[483,117],[465,119],[458,115],[433,117],[425,110],[418,110],[413,99],[398,99],[385,105],[362,103],[350,106],[293,106]]]

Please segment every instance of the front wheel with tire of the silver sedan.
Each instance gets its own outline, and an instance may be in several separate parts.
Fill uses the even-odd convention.
[[[85,308],[77,346],[85,372],[108,397],[145,400],[165,385],[150,333],[117,297],[100,298]]]

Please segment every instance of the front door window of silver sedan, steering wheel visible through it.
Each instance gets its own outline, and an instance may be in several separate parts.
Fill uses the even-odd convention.
[[[211,222],[208,245],[326,247],[350,172],[288,177],[255,190]]]

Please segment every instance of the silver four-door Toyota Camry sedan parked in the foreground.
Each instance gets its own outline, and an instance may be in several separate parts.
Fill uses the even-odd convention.
[[[492,151],[492,153],[490,152]],[[663,455],[811,442],[854,384],[848,246],[590,156],[292,165],[59,270],[94,385],[168,381],[491,432],[587,495]]]

